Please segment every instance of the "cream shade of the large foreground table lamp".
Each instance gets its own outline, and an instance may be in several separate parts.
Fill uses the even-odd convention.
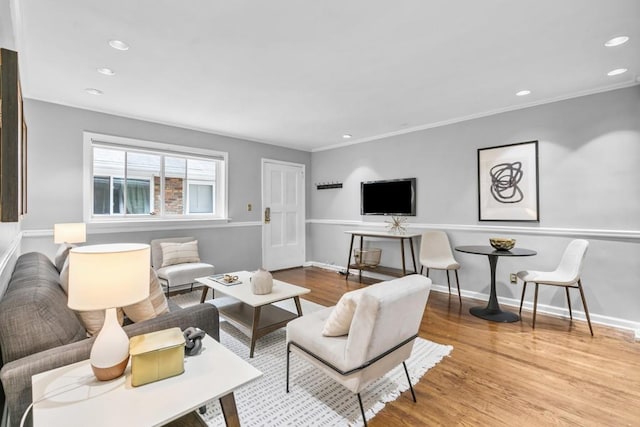
[[[74,310],[123,307],[149,296],[149,245],[118,243],[69,252],[69,300]]]

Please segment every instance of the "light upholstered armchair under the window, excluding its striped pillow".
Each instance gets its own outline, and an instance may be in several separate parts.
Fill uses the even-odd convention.
[[[172,237],[166,239],[154,239],[151,241],[151,266],[158,274],[160,284],[167,288],[167,297],[172,286],[191,285],[197,277],[211,276],[215,269],[211,264],[203,262],[187,262],[163,267],[162,246],[163,242],[186,243],[196,240],[195,237]]]

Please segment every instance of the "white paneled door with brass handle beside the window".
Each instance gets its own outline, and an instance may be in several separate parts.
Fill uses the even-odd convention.
[[[262,160],[262,265],[267,270],[304,264],[304,167]]]

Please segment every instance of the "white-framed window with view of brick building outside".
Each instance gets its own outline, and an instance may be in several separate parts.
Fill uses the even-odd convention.
[[[85,133],[85,216],[224,219],[226,161],[227,153]]]

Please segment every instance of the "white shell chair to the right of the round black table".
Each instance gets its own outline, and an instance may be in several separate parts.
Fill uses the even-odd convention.
[[[524,293],[527,290],[527,283],[536,284],[535,296],[533,299],[533,329],[536,328],[536,310],[538,307],[538,285],[563,286],[567,294],[567,304],[569,305],[569,318],[573,320],[571,313],[571,299],[569,298],[569,288],[577,288],[580,290],[582,305],[584,306],[584,314],[587,317],[589,331],[593,336],[593,328],[591,327],[591,319],[589,318],[589,309],[587,308],[587,300],[584,298],[584,290],[582,289],[582,281],[580,273],[584,264],[584,257],[587,253],[589,242],[583,239],[572,240],[560,259],[560,264],[553,271],[519,271],[518,277],[524,282],[522,288],[522,297],[520,298],[520,314],[522,314],[522,303],[524,301]],[[522,316],[520,316],[522,318]]]

